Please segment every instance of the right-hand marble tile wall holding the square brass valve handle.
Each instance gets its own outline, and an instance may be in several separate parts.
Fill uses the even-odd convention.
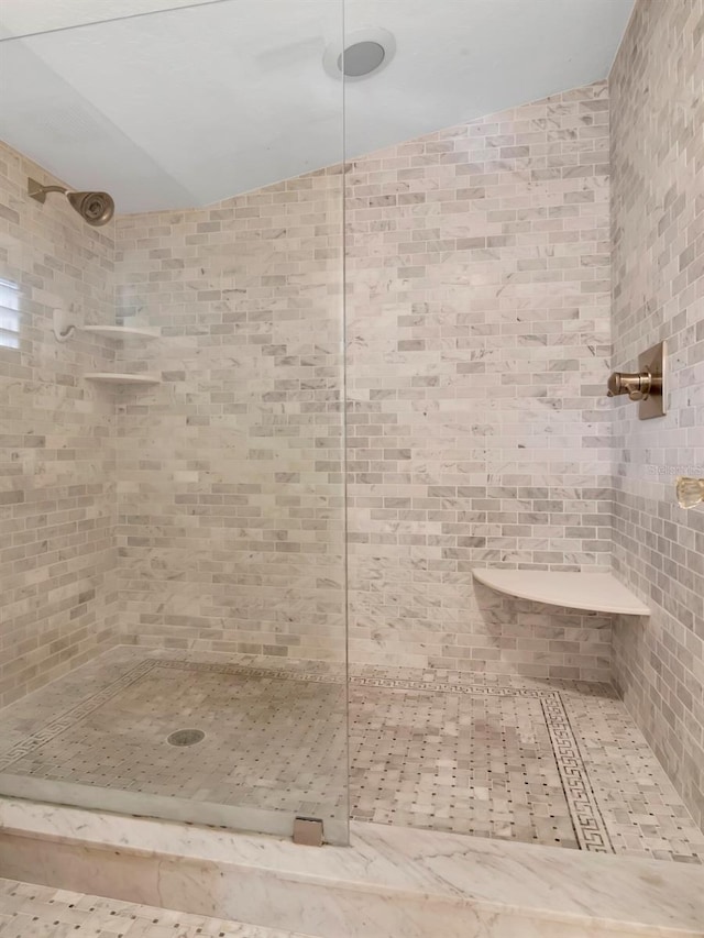
[[[669,343],[669,412],[615,402],[614,564],[652,607],[615,628],[626,705],[704,820],[704,3],[639,0],[610,76],[614,362]]]

